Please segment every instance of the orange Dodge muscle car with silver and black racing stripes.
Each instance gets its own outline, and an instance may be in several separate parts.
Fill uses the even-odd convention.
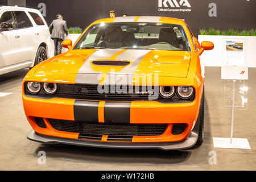
[[[108,148],[181,150],[203,142],[204,50],[180,19],[90,24],[23,80],[27,138]]]

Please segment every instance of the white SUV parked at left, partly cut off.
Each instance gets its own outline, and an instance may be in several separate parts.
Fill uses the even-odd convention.
[[[51,35],[39,10],[0,6],[0,75],[48,59]]]

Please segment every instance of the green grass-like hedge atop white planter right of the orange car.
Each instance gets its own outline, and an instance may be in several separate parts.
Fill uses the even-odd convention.
[[[214,28],[200,29],[200,35],[233,35],[233,36],[256,36],[256,30],[251,28],[251,30],[216,30]]]

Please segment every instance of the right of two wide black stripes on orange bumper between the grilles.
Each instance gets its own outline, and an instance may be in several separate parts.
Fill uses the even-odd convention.
[[[105,123],[130,123],[131,102],[106,102],[104,105]]]

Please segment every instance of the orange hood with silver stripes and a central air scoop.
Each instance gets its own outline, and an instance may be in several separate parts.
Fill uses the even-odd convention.
[[[71,50],[46,61],[36,69],[40,74],[103,74],[151,75],[187,77],[191,53],[187,51],[157,51],[143,49]],[[94,62],[93,62],[94,61]],[[101,64],[94,64],[95,61]],[[119,61],[108,65],[106,61]],[[122,64],[126,62],[126,64]],[[109,62],[108,62],[109,63]],[[116,63],[116,62],[115,62]]]

